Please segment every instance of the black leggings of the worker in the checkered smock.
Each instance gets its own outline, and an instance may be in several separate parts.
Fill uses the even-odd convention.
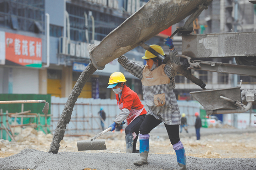
[[[153,115],[147,115],[142,124],[140,125],[140,134],[147,135],[152,129],[154,129],[158,124],[162,123],[162,120],[156,119]],[[179,125],[167,125],[165,124],[169,139],[172,145],[180,141],[179,136]]]

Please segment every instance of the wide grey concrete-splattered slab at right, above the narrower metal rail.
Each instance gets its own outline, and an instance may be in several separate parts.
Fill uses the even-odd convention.
[[[191,58],[256,56],[256,32],[182,36],[182,55]]]

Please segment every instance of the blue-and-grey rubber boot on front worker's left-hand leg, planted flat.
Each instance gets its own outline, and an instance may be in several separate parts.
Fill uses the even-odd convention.
[[[140,159],[134,162],[134,165],[142,166],[148,164],[147,157],[149,152],[149,139],[140,139]]]

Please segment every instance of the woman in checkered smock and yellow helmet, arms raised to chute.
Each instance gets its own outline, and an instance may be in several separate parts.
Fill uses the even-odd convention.
[[[168,37],[165,44],[170,49],[170,60],[180,65],[180,58],[177,57],[178,52],[173,46],[172,39]],[[150,47],[166,56],[162,47],[157,45],[151,45]],[[142,58],[146,60],[146,65],[128,60],[124,55],[118,58],[118,62],[125,70],[142,81],[143,98],[148,106],[147,116],[140,126],[140,159],[134,162],[134,165],[140,166],[148,163],[149,133],[154,127],[163,122],[176,152],[178,165],[181,170],[187,170],[185,150],[179,137],[181,115],[173,92],[175,87],[174,76],[177,72],[169,65],[162,64],[162,60],[147,50]]]

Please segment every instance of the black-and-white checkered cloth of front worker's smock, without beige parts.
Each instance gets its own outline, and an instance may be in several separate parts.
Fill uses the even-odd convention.
[[[170,60],[177,65],[180,65],[180,58],[176,57],[178,55],[177,50],[169,50]],[[132,75],[136,76],[138,79],[143,79],[143,69],[144,65],[135,63],[129,60],[126,56],[122,55],[118,58],[118,62]],[[143,98],[148,106],[147,114],[155,116],[156,119],[162,120],[167,125],[180,124],[181,116],[180,109],[176,97],[174,95],[173,89],[175,88],[174,76],[177,74],[169,65],[164,67],[165,74],[171,79],[169,84],[159,84],[156,86],[143,86]],[[166,103],[163,106],[155,106],[154,104],[154,94],[165,93]]]

